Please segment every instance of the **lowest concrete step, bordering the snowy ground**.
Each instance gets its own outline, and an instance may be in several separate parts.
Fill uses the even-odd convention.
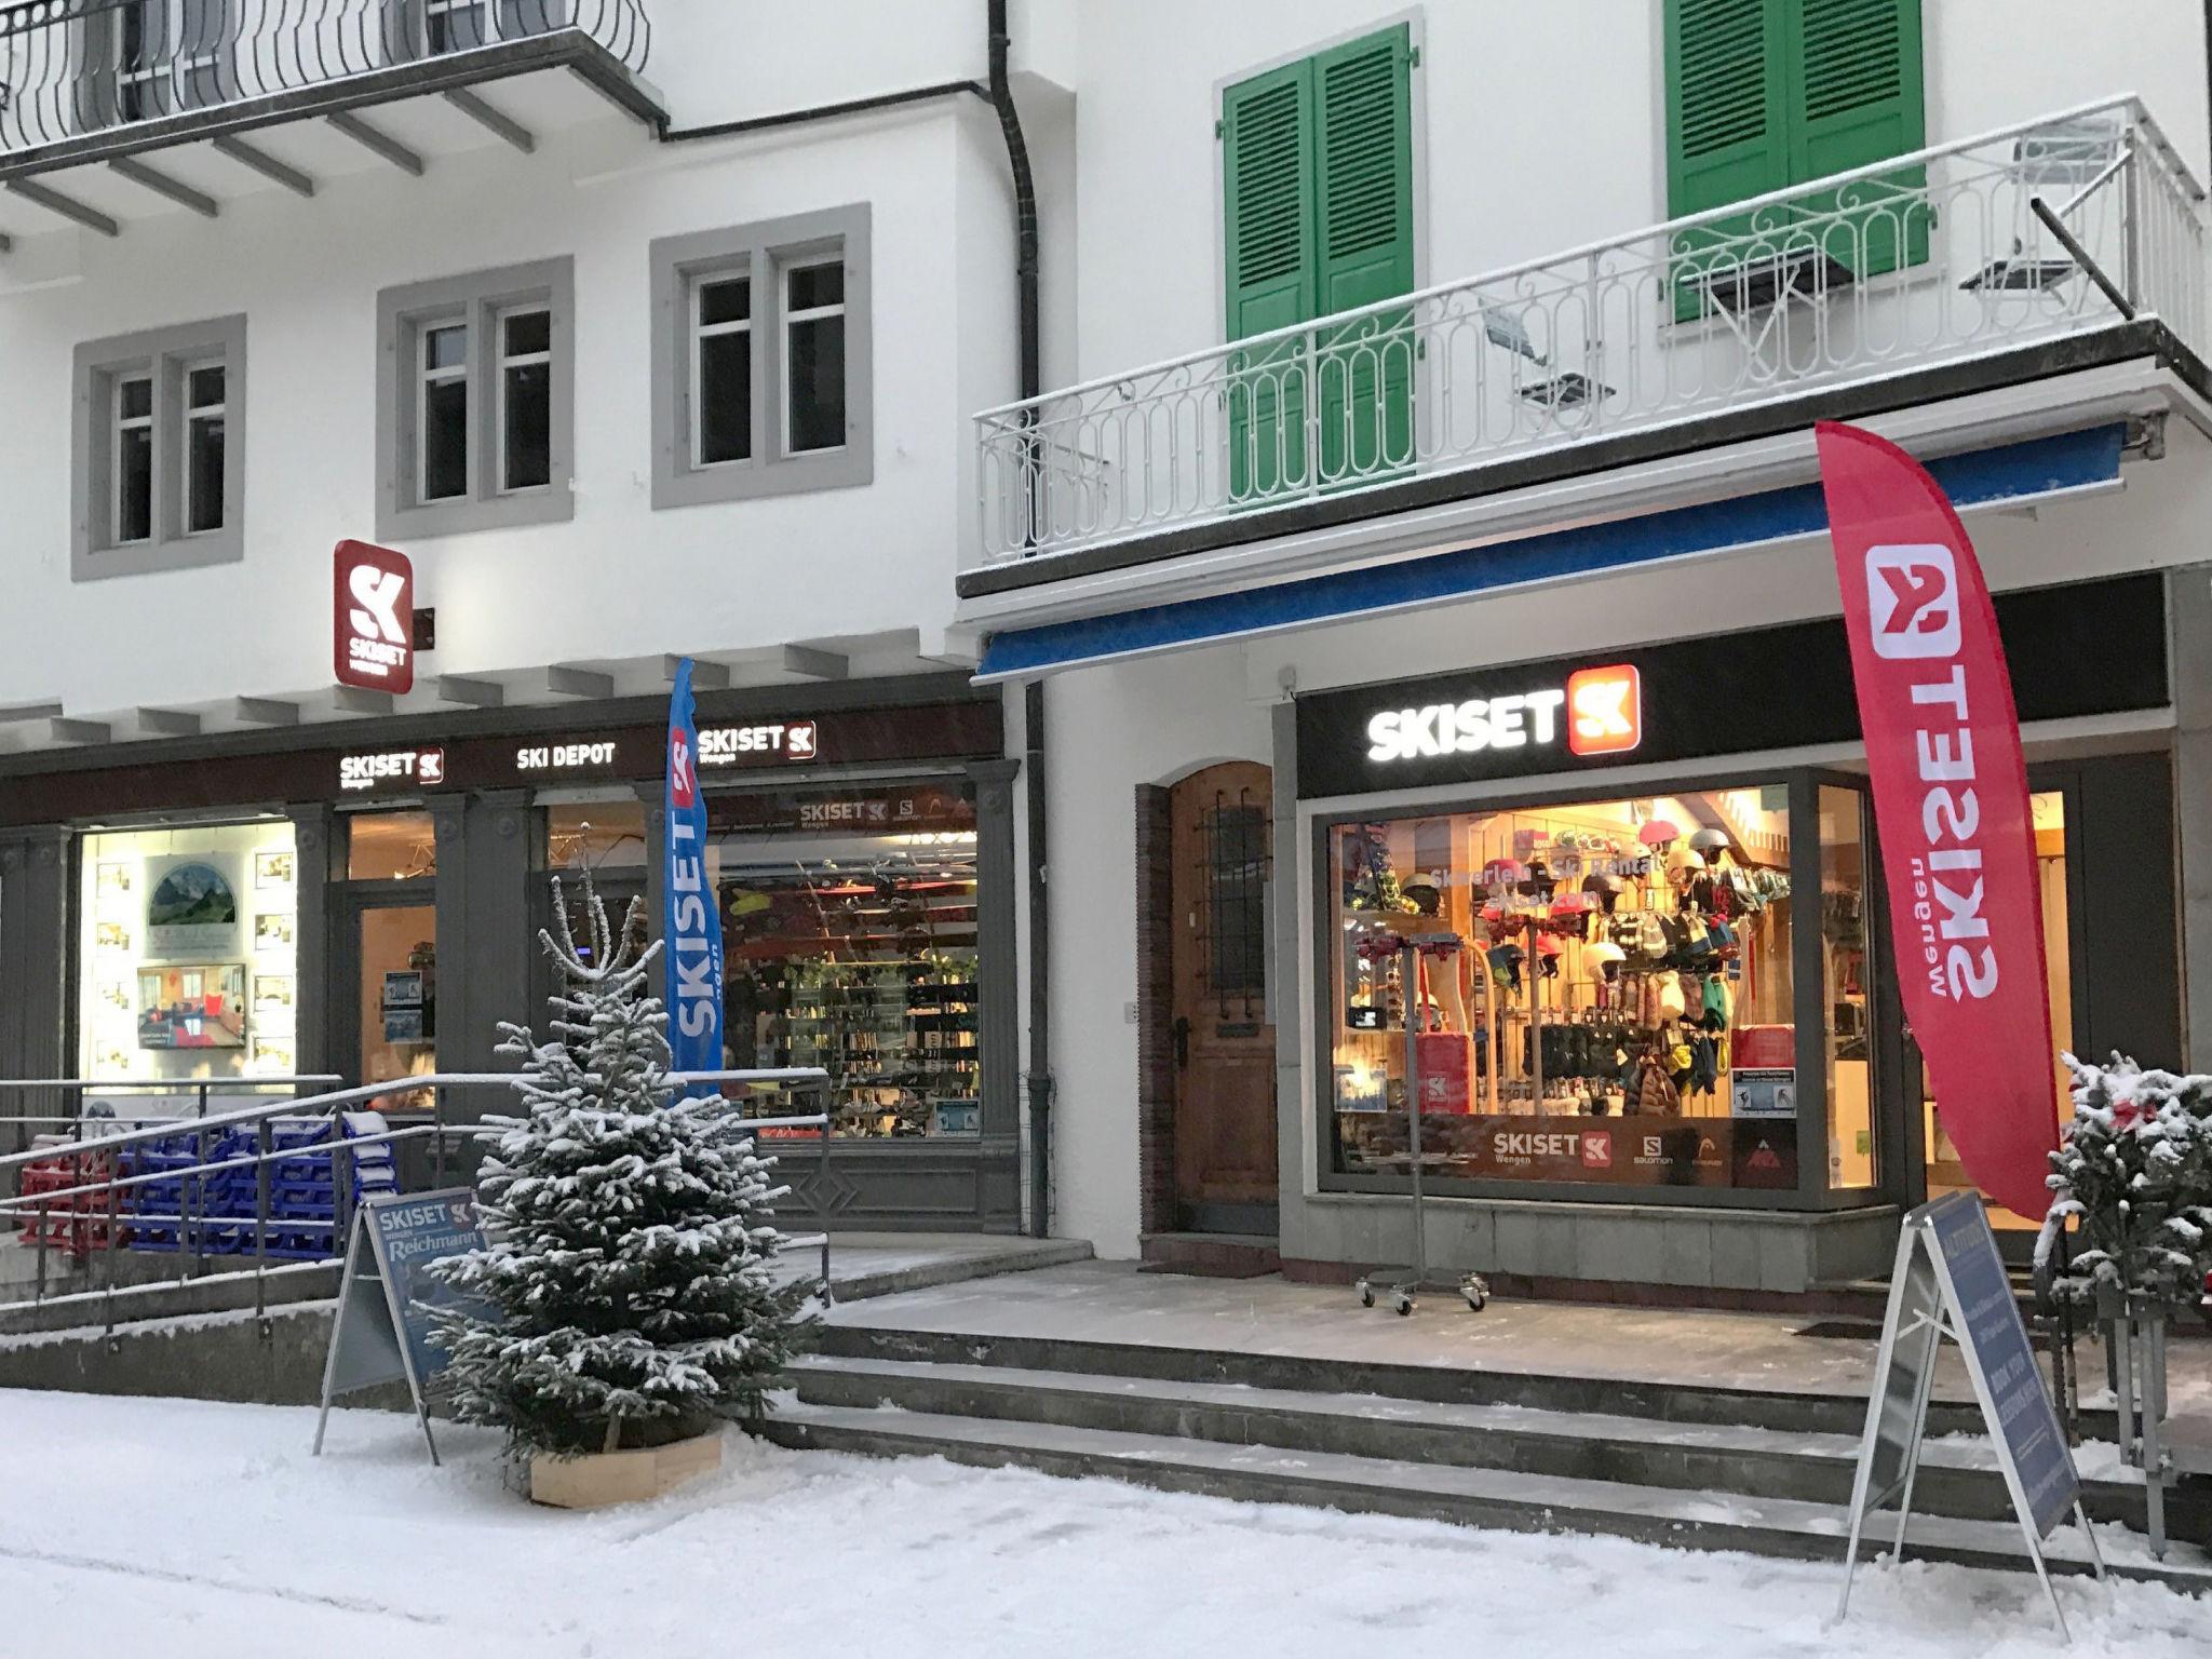
[[[1847,1535],[1843,1509],[1794,1498],[1723,1498],[1515,1469],[1467,1469],[1055,1422],[991,1422],[799,1400],[770,1418],[768,1438],[785,1447],[878,1458],[933,1455],[1048,1475],[1106,1475],[1161,1491],[1243,1502],[1307,1504],[1522,1533],[1597,1533],[1646,1544],[1796,1559],[1836,1562]],[[1893,1520],[1887,1528],[1876,1528],[1882,1546],[1893,1540]],[[2137,1542],[2128,1542],[2119,1559],[2112,1555],[2121,1540],[2104,1535],[2099,1542],[2115,1573],[2161,1579],[2188,1590],[2212,1588],[2212,1559],[2194,1546],[2174,1544],[2168,1559],[2154,1564]],[[1907,1533],[1907,1555],[1966,1566],[2026,1568],[2020,1528],[2013,1522],[1916,1515]],[[2046,1557],[2053,1571],[2088,1571],[2086,1544],[2073,1528],[2053,1535]]]

